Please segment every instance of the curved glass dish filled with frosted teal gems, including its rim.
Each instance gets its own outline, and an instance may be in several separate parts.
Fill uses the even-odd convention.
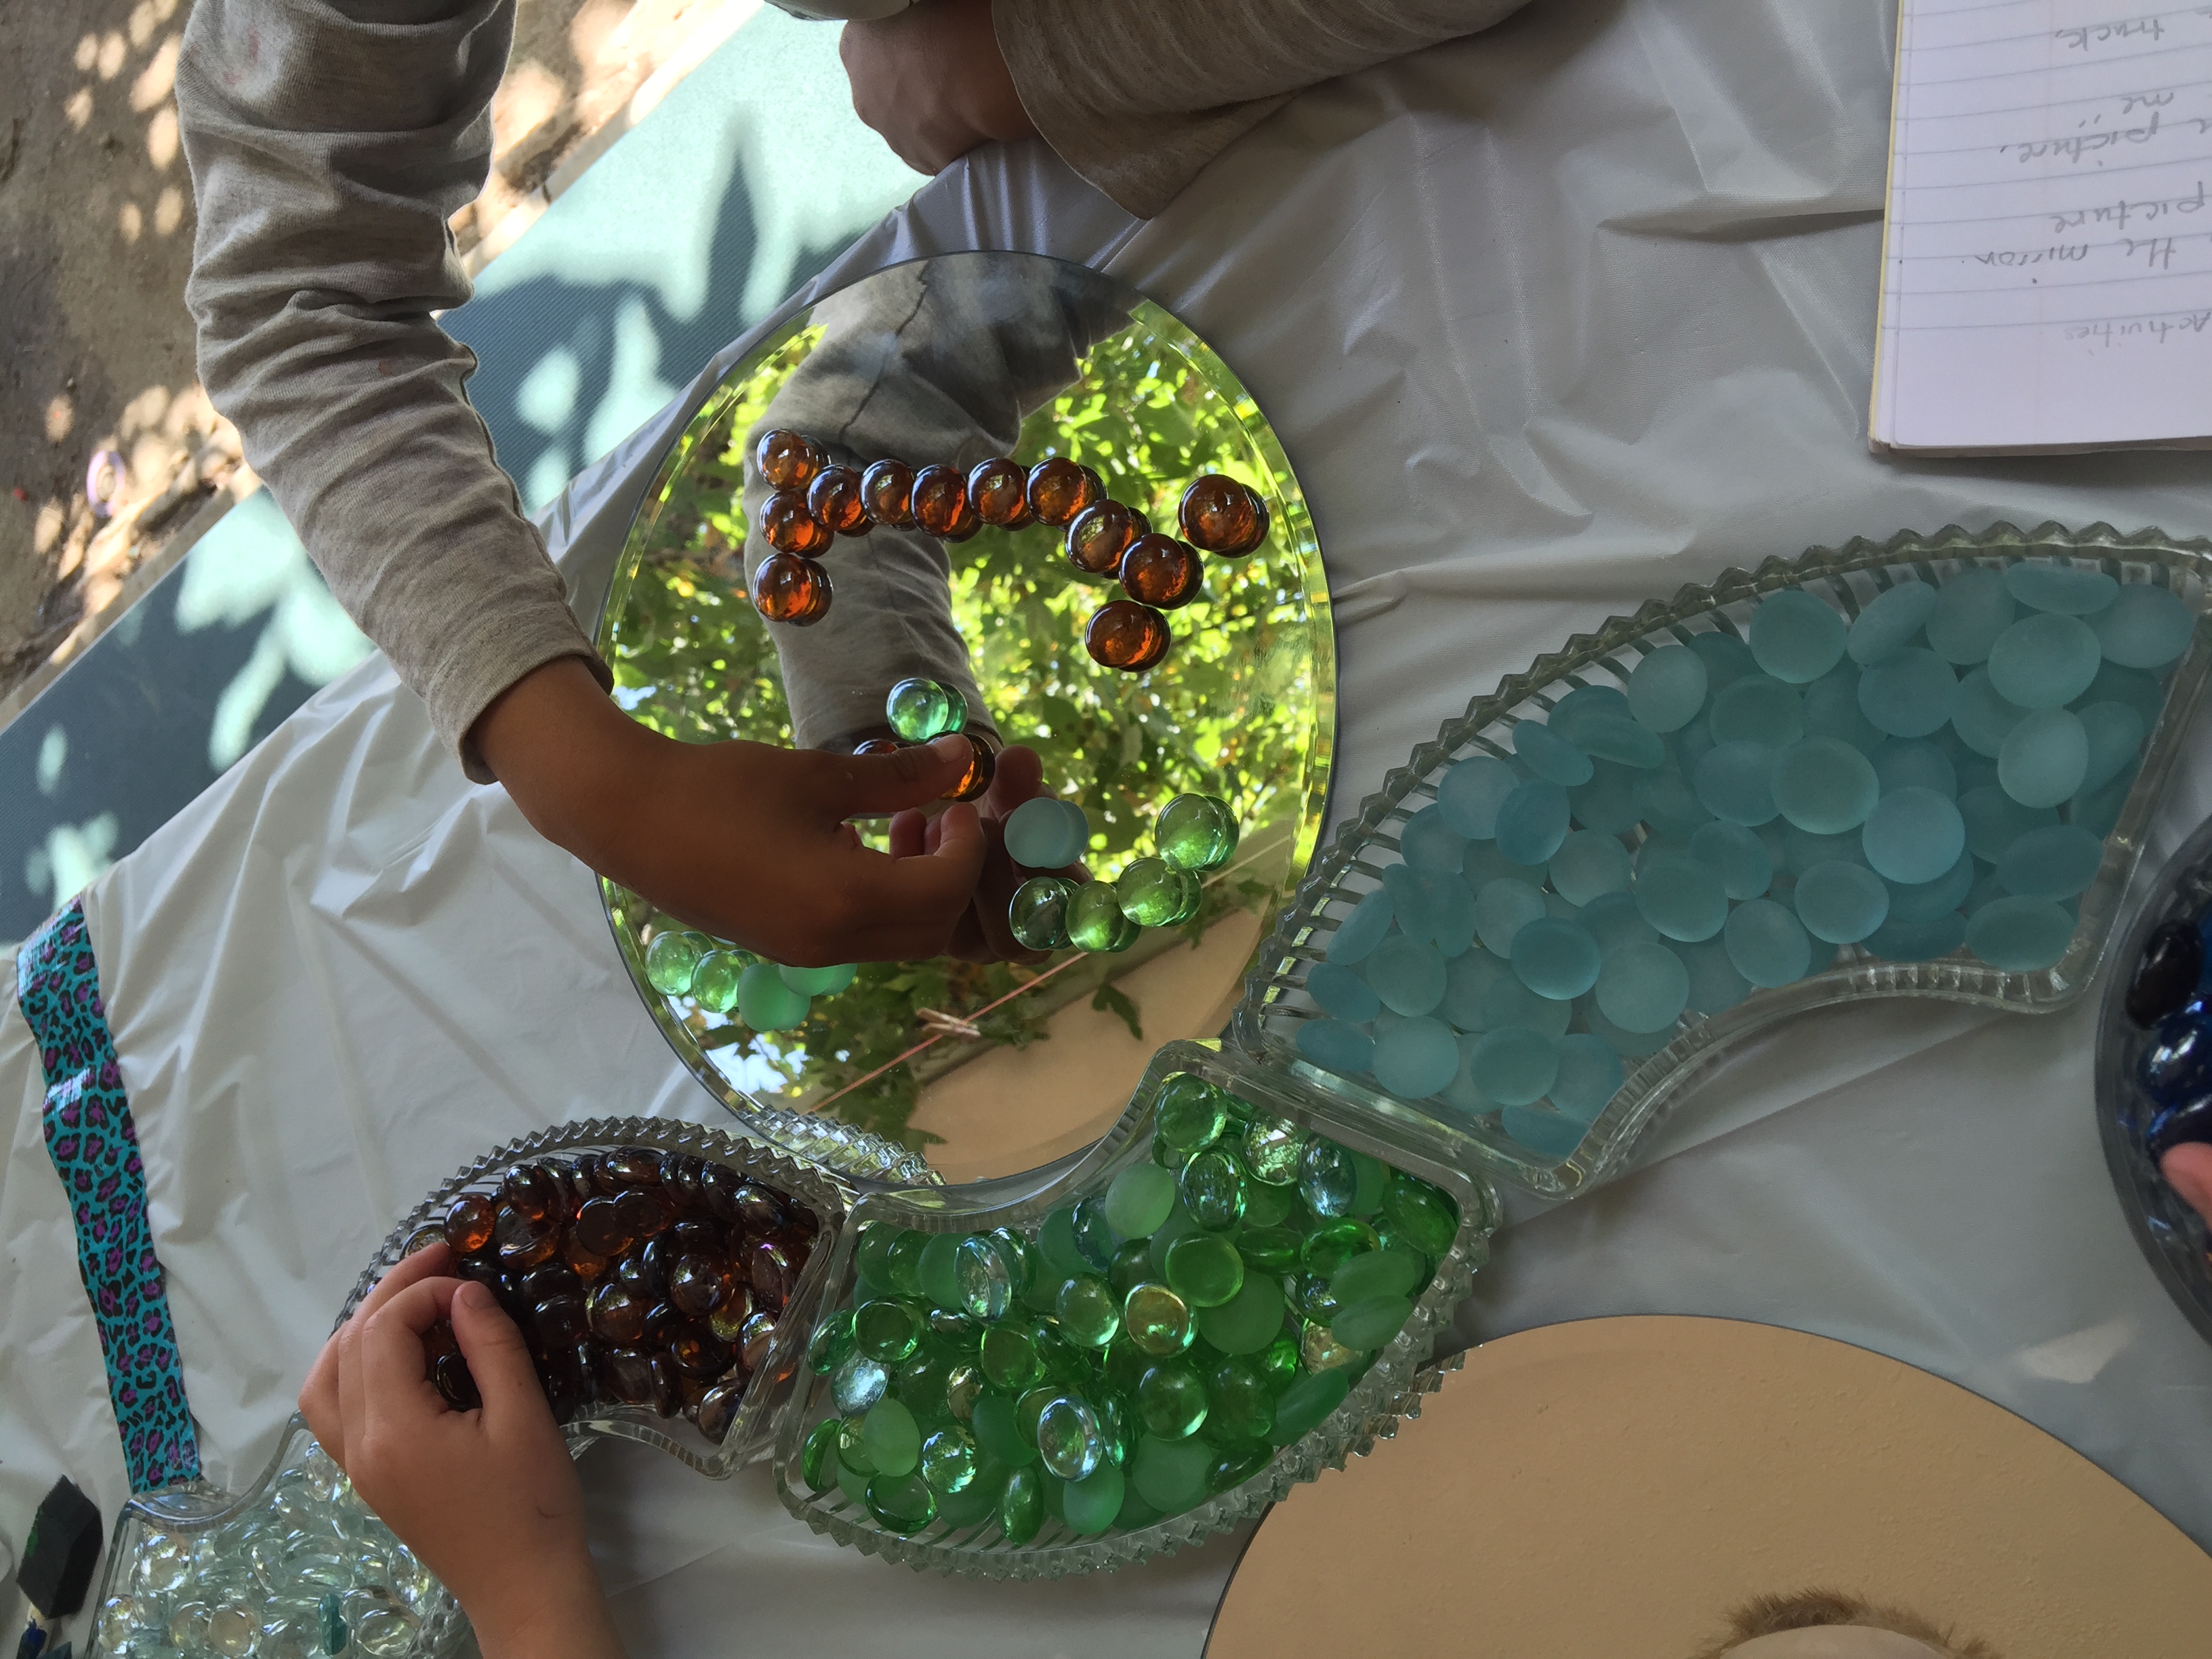
[[[1776,1020],[2066,1006],[2203,690],[2208,577],[2161,531],[1953,526],[1577,635],[1338,830],[1237,1040],[1562,1197]]]

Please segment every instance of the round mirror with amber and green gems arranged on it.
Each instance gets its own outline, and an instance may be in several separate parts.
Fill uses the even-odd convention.
[[[896,323],[916,307],[931,327]],[[838,403],[856,380],[858,414]],[[918,414],[945,407],[967,425]],[[748,597],[770,535],[834,591],[805,626]],[[1172,557],[1117,564],[1139,542]],[[1197,586],[1157,588],[1161,560]],[[1126,591],[1168,606],[1148,613],[1166,655],[1117,668],[1086,628],[1144,611]],[[858,1181],[995,1177],[1102,1135],[1164,1040],[1225,1026],[1318,841],[1336,666],[1298,482],[1201,338],[1077,265],[947,254],[768,325],[646,491],[597,644],[617,701],[686,743],[867,759],[967,732],[1037,754],[1020,823],[995,785],[980,807],[1055,860],[1020,876],[1066,883],[1013,914],[1044,962],[779,964],[602,887],[690,1071]],[[1177,801],[1199,803],[1172,823],[1188,856],[1155,836]],[[889,845],[887,821],[854,827]],[[1018,1133],[980,1133],[1015,1091],[1035,1106]]]

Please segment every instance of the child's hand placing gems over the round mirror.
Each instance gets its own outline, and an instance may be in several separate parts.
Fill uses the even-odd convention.
[[[971,805],[940,812],[929,849],[911,856],[872,852],[845,823],[940,799],[969,765],[967,739],[880,757],[675,743],[566,657],[509,686],[476,741],[546,841],[787,967],[940,956],[982,876]]]

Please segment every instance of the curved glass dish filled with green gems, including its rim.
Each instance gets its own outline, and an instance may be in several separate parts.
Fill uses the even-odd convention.
[[[1042,1188],[856,1201],[776,1489],[841,1544],[969,1577],[1194,1544],[1420,1413],[1495,1219],[1436,1124],[1170,1042]]]

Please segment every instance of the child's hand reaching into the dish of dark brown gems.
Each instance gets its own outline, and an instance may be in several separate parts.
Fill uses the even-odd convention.
[[[484,1659],[619,1659],[584,1548],[584,1493],[522,1332],[482,1285],[418,1250],[323,1345],[299,1409],[354,1491],[453,1593]],[[484,1398],[453,1411],[422,1332],[451,1318]]]

